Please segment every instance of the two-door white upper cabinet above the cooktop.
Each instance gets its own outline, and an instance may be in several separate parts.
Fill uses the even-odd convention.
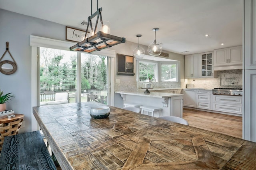
[[[242,45],[214,50],[214,70],[242,69]]]

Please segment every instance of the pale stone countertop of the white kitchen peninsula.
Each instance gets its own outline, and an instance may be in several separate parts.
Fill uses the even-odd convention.
[[[176,94],[176,93],[158,93],[158,92],[144,93],[144,91],[116,91],[115,93],[119,93],[123,95],[137,95],[137,96],[156,97],[156,98],[183,96],[183,94]]]

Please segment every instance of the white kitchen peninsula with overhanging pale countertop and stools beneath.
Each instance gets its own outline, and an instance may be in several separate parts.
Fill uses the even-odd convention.
[[[116,91],[121,95],[123,103],[136,103],[142,106],[153,106],[161,108],[159,116],[182,117],[183,113],[183,94],[158,93],[144,91]]]

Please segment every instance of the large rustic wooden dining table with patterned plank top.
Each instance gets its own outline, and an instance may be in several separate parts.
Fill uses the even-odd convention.
[[[256,169],[255,142],[111,106],[91,118],[102,105],[33,107],[62,170]]]

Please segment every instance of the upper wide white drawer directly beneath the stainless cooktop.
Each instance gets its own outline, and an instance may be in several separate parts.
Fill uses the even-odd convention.
[[[214,102],[218,103],[227,103],[227,104],[238,104],[242,105],[242,96],[221,96],[221,95],[214,95],[213,97]]]

